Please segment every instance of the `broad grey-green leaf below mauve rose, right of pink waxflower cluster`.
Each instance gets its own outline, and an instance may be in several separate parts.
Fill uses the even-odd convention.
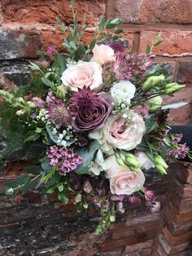
[[[76,174],[89,174],[89,164],[94,158],[94,153],[98,150],[98,140],[94,139],[86,148],[76,149],[76,153],[83,158],[83,163],[75,170]]]

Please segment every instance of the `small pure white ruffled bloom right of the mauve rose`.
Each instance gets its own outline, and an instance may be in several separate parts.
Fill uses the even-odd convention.
[[[111,95],[117,103],[130,104],[135,94],[135,86],[129,81],[120,81],[111,87]]]

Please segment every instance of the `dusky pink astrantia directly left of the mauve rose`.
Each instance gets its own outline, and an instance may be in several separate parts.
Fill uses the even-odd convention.
[[[46,97],[50,120],[55,125],[67,126],[72,117],[62,99],[56,98],[51,92]]]

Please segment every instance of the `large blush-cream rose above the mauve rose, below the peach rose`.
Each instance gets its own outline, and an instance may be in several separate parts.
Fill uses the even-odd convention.
[[[79,61],[77,64],[71,64],[63,72],[61,80],[63,87],[70,86],[72,90],[77,91],[83,86],[90,90],[98,89],[102,85],[102,68],[95,62]]]

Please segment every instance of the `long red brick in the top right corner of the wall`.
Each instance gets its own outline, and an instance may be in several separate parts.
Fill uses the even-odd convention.
[[[192,23],[191,0],[117,0],[116,16],[131,24]]]

